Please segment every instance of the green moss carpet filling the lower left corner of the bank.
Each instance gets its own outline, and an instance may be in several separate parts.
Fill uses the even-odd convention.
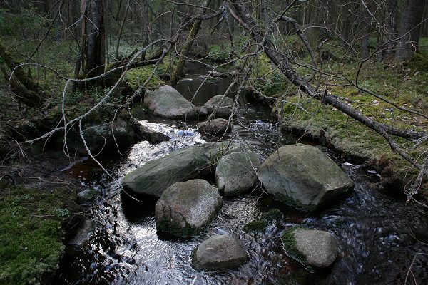
[[[61,192],[1,190],[0,284],[47,284],[63,255]]]

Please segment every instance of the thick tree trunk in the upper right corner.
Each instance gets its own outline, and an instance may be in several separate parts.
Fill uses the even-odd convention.
[[[420,22],[424,14],[424,6],[427,0],[406,0],[402,9],[401,22],[399,24],[399,37],[396,61],[408,61],[417,51],[419,43]]]

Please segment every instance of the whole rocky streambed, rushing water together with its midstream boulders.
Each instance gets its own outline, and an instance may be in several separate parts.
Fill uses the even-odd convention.
[[[170,140],[138,142],[110,163],[114,180],[76,165],[101,204],[86,240],[63,259],[61,283],[396,284],[409,269],[427,281],[417,253],[428,247],[412,237],[423,215],[372,190],[376,173],[295,145],[268,111],[244,102],[232,133],[217,138],[198,133],[198,121],[146,118]]]

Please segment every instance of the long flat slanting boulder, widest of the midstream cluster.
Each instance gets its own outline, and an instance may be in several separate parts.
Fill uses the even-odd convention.
[[[131,171],[123,178],[122,185],[136,195],[161,197],[163,190],[175,182],[213,172],[220,157],[238,149],[239,145],[229,145],[228,142],[210,142],[175,150]]]

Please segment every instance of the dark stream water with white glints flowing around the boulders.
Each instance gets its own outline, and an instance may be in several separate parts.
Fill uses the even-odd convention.
[[[178,90],[191,98],[203,78],[180,81]],[[195,98],[201,105],[213,95],[221,95],[229,78],[205,82]],[[281,133],[270,118],[270,109],[243,102],[233,134],[222,140],[248,142],[260,157],[267,157],[280,145],[297,138]],[[142,114],[136,108],[136,115]],[[188,145],[213,138],[200,135],[196,122],[141,117],[141,123],[168,135],[171,140],[158,145],[138,142],[121,160],[105,162],[113,180],[93,162],[78,162],[71,170],[87,187],[101,193],[98,207],[91,209],[95,229],[86,245],[68,248],[58,284],[404,284],[415,254],[427,253],[428,246],[409,232],[408,221],[422,219],[414,207],[402,199],[372,190],[378,175],[358,165],[329,155],[355,181],[355,190],[334,206],[315,214],[302,214],[276,204],[255,189],[250,195],[225,198],[220,214],[203,233],[190,240],[161,239],[156,234],[152,199],[135,202],[120,195],[123,175],[149,160]],[[300,141],[301,142],[301,141]],[[168,173],[165,173],[168,175]],[[162,177],[159,177],[162,179]],[[243,226],[268,209],[279,208],[282,220],[269,224],[264,232],[245,233]],[[322,229],[340,240],[340,257],[328,271],[309,272],[287,257],[280,236],[287,227]],[[231,234],[245,244],[250,261],[239,269],[195,271],[190,253],[208,237]],[[407,284],[428,284],[427,257],[418,254]]]

